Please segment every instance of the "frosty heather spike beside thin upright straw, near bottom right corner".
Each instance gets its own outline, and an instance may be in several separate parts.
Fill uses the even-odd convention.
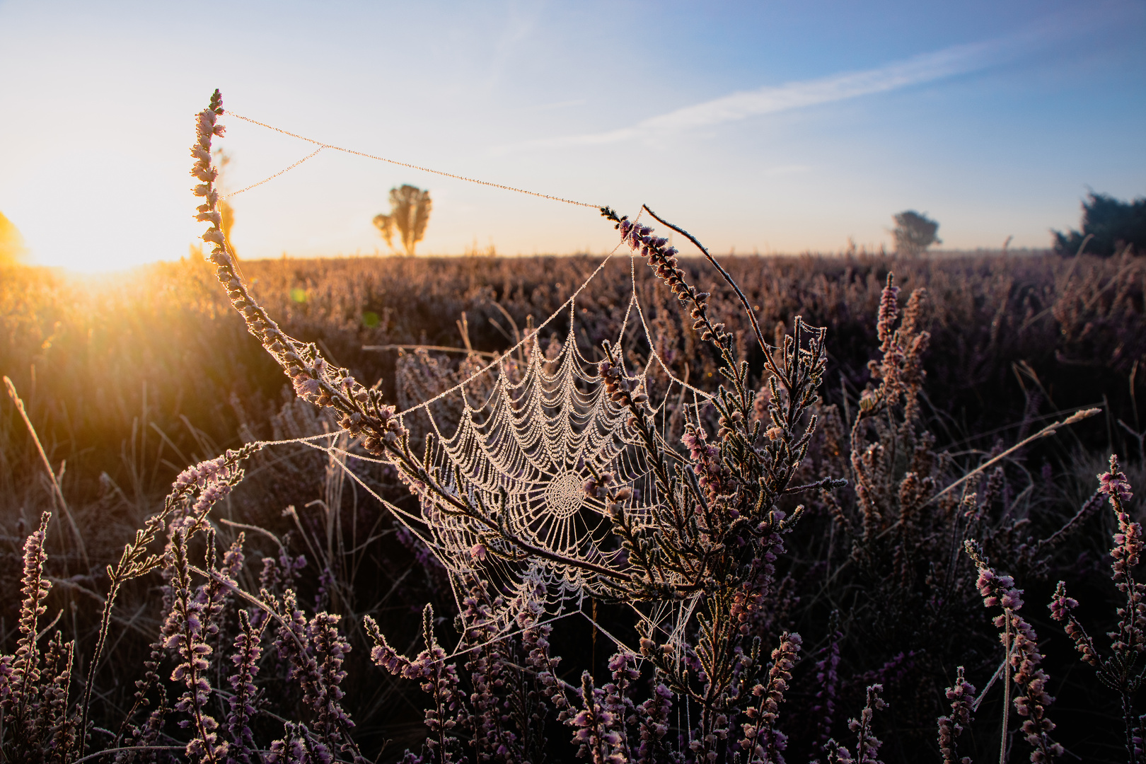
[[[1014,671],[1012,680],[1019,692],[1014,699],[1014,708],[1019,716],[1026,717],[1022,732],[1031,746],[1030,761],[1037,763],[1053,761],[1062,755],[1063,748],[1050,738],[1054,723],[1046,717],[1046,708],[1054,699],[1046,692],[1049,682],[1046,672],[1038,668],[1043,660],[1043,654],[1038,652],[1038,636],[1019,615],[1023,605],[1022,590],[1015,588],[1011,576],[999,575],[990,567],[978,543],[967,539],[965,549],[979,568],[979,580],[975,585],[983,597],[983,606],[1003,608],[1003,614],[996,616],[992,623],[1002,630],[999,639],[1006,647],[1005,668]],[[1008,715],[1007,706],[1004,706],[1004,714]],[[1005,745],[1006,741],[1004,747]]]

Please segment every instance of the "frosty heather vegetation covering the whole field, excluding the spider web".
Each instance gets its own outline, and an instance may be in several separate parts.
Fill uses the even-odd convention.
[[[215,121],[196,153],[212,230]],[[1141,761],[1141,262],[733,258],[724,281],[612,219],[653,347],[603,345],[627,258],[590,282],[575,341],[700,517],[642,535],[631,491],[594,474],[639,572],[594,622],[545,623],[541,592],[481,575],[528,553],[508,533],[452,582],[363,487],[411,513],[411,482],[448,488],[397,458],[417,433],[387,407],[535,331],[596,260],[240,279],[209,233],[213,263],[6,267],[8,761]],[[728,388],[672,440],[642,434],[625,372],[653,349]],[[322,433],[397,456],[261,444]],[[702,596],[666,649],[630,606],[682,586]]]

